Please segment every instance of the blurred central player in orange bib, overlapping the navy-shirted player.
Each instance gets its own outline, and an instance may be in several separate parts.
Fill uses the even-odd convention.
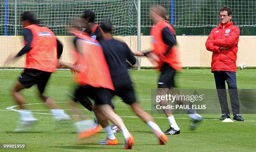
[[[84,96],[95,101],[96,116],[102,113],[105,120],[110,120],[120,128],[125,138],[124,149],[131,149],[134,143],[133,136],[110,106],[114,86],[100,43],[81,32],[74,31],[73,34],[79,38],[76,41],[77,64],[60,62],[60,65],[79,71],[77,74],[79,89]],[[111,133],[113,134],[112,131]]]

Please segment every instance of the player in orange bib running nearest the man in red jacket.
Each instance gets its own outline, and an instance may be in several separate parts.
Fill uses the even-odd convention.
[[[151,28],[151,35],[154,38],[154,50],[149,52],[135,52],[137,56],[147,56],[151,58],[153,63],[158,65],[161,75],[158,82],[157,95],[166,95],[169,89],[174,87],[174,76],[176,71],[181,67],[177,57],[177,51],[174,47],[176,41],[174,38],[174,29],[164,20],[166,9],[161,5],[151,6],[150,17],[154,23]],[[166,100],[160,101],[161,106],[168,106]],[[164,113],[169,121],[170,128],[164,132],[165,134],[179,134],[180,129],[170,109],[164,109]],[[200,122],[202,116],[195,112],[189,114],[192,118],[192,127],[196,127],[196,123]]]

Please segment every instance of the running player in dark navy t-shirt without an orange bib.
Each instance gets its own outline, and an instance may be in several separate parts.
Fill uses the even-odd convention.
[[[108,67],[110,70],[111,79],[115,88],[115,95],[119,96],[126,104],[129,104],[133,111],[152,129],[152,132],[159,138],[159,144],[166,144],[167,137],[161,131],[159,126],[154,122],[150,114],[146,113],[141,106],[136,102],[133,84],[127,71],[126,61],[134,65],[136,58],[131,52],[130,48],[123,42],[113,39],[111,35],[112,24],[111,22],[104,22],[101,26],[103,37],[101,47],[104,52]],[[97,114],[96,114],[97,115]],[[98,115],[97,115],[98,117]],[[103,118],[103,119],[100,119]],[[104,131],[107,134],[107,139],[99,144],[118,144],[115,135],[112,133],[108,120],[104,117],[98,117],[98,120]]]

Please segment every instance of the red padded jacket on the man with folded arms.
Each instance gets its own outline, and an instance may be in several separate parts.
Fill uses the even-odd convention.
[[[230,22],[226,25],[219,23],[219,27],[213,28],[205,43],[206,49],[212,52],[213,71],[236,72],[236,53],[240,29]],[[228,48],[220,50],[220,47]]]

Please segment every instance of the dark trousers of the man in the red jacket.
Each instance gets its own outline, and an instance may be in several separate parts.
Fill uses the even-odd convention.
[[[228,109],[225,81],[228,84],[228,93],[230,96],[233,114],[240,114],[238,91],[236,86],[236,73],[231,71],[214,71],[213,74],[222,114],[230,114]]]

